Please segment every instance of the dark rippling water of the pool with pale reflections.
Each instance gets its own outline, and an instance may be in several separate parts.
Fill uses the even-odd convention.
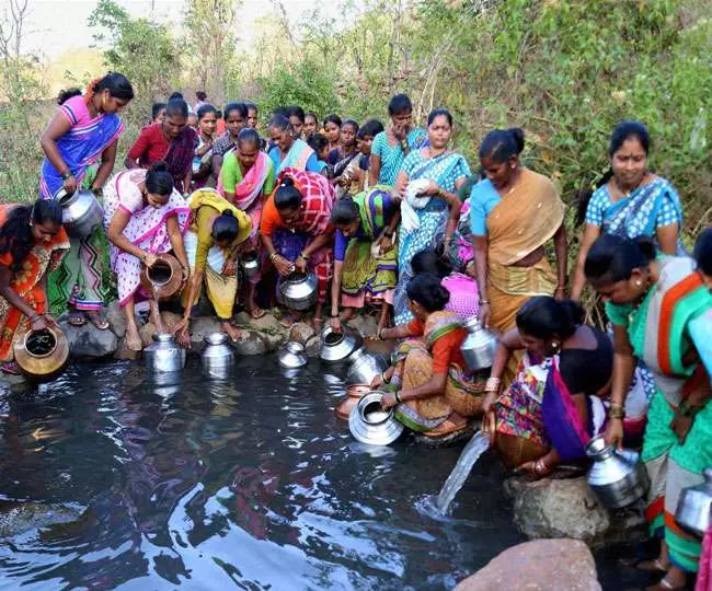
[[[229,383],[197,360],[173,387],[115,363],[5,395],[0,500],[81,517],[0,545],[2,586],[451,589],[521,541],[493,457],[435,517],[462,447],[359,444],[342,392],[318,363],[288,376],[259,357]]]

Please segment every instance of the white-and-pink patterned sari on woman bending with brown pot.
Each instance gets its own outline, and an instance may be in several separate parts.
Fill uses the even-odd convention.
[[[185,233],[191,222],[191,210],[181,194],[173,189],[168,202],[156,208],[146,205],[138,185],[146,181],[147,171],[133,169],[118,173],[112,178],[104,192],[104,228],[108,229],[114,213],[119,209],[130,215],[124,228],[124,235],[131,244],[150,254],[168,253],[171,241],[166,220],[177,218],[181,233]],[[110,245],[112,269],[118,281],[118,304],[125,306],[140,288],[141,262],[130,253]],[[149,293],[141,293],[150,297]]]

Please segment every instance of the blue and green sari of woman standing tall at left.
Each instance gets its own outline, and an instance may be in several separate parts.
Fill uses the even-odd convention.
[[[72,96],[59,106],[58,113],[71,128],[57,139],[57,150],[77,179],[89,188],[96,174],[95,164],[102,153],[118,140],[124,124],[116,114],[91,117],[84,96]],[[42,163],[39,197],[56,199],[65,181],[47,158]],[[101,228],[83,239],[70,239],[70,251],[61,266],[47,278],[47,296],[53,313],[64,312],[67,304],[77,310],[101,310],[108,300],[113,285],[106,273],[106,237]]]

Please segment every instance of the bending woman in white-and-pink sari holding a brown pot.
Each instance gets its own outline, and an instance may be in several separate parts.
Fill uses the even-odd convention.
[[[133,351],[142,348],[136,324],[137,296],[150,301],[153,322],[158,326],[158,302],[140,288],[141,264],[152,267],[156,255],[173,250],[188,277],[188,259],[183,234],[191,220],[185,199],[173,187],[173,176],[165,164],[152,171],[134,169],[118,173],[106,186],[104,227],[112,244],[112,269],[118,278],[118,304],[126,314],[126,346]]]

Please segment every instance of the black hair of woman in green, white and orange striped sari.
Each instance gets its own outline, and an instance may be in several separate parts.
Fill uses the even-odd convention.
[[[589,280],[615,283],[630,279],[633,269],[647,267],[654,258],[655,245],[647,236],[602,234],[586,255],[584,273]]]

